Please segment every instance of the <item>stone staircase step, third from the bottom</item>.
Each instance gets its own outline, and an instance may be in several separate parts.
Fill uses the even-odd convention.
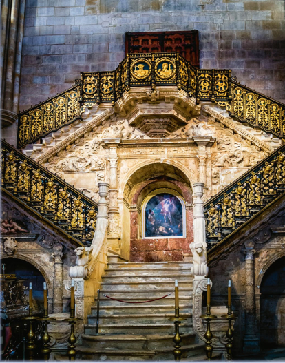
[[[190,319],[189,319],[190,320]],[[131,335],[138,334],[149,334],[152,331],[158,333],[173,333],[174,324],[169,322],[168,324],[100,324],[99,326],[101,333],[125,333],[126,331],[131,332]],[[189,333],[192,329],[192,322],[183,322],[180,324],[180,333]],[[85,334],[95,334],[96,325],[85,324]]]

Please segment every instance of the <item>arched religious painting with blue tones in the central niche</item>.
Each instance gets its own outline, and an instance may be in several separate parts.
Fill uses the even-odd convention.
[[[180,200],[172,194],[153,196],[145,207],[145,237],[182,237],[183,210]]]

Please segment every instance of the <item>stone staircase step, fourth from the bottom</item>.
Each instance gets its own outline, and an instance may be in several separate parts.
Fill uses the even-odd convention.
[[[141,314],[121,314],[121,315],[101,315],[100,317],[100,324],[168,324],[169,318],[173,317],[174,315],[174,309],[172,313],[154,313],[154,314],[147,314],[142,309]],[[183,315],[184,318],[190,319],[192,317],[191,313],[180,313],[180,315]],[[88,324],[89,325],[95,325],[96,324],[96,316],[89,315],[88,316]]]

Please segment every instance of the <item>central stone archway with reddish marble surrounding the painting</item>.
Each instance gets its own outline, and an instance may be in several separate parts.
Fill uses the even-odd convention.
[[[144,200],[155,195],[156,190],[165,190],[169,196],[181,198],[185,209],[185,233],[183,236],[169,235],[145,238],[142,234]],[[123,200],[123,244],[129,249],[131,261],[179,261],[190,253],[193,242],[192,189],[188,176],[176,165],[151,163],[137,168],[127,179]],[[144,212],[145,213],[145,212]],[[164,228],[164,227],[162,227]]]

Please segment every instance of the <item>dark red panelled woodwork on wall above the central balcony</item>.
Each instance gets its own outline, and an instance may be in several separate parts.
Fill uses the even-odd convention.
[[[127,53],[179,52],[199,67],[198,30],[189,32],[127,32]]]

